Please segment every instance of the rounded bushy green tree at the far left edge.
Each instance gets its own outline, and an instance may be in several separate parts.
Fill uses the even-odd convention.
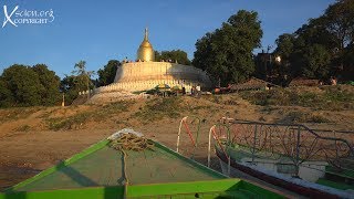
[[[55,105],[59,85],[59,76],[45,64],[11,65],[0,76],[0,106]]]

